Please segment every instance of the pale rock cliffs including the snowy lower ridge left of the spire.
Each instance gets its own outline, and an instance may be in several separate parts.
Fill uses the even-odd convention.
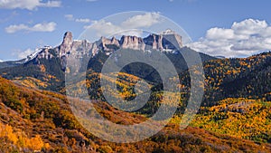
[[[179,50],[179,46],[182,47],[182,36],[169,30],[159,34],[153,33],[145,38],[130,35],[123,35],[119,40],[116,37],[111,39],[101,37],[94,43],[89,43],[87,40],[73,40],[72,33],[66,32],[61,45],[55,48],[43,47],[42,50],[33,54],[31,59],[39,63],[39,59],[59,58],[64,70],[68,56],[73,62],[76,62],[84,57],[91,58],[99,51],[105,52],[107,55],[117,51],[119,48],[173,52]],[[53,53],[51,50],[53,50]]]

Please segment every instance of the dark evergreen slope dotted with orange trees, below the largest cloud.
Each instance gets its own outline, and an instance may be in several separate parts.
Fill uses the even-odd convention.
[[[217,59],[203,62],[205,93],[202,106],[213,106],[227,98],[270,100],[271,53],[260,53],[248,58]],[[190,77],[180,74],[182,91],[188,97]]]

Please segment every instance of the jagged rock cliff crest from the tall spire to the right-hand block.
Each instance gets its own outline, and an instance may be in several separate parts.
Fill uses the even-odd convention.
[[[123,35],[119,40],[116,37],[111,39],[101,37],[97,42],[89,43],[87,40],[73,40],[72,33],[64,34],[63,41],[60,46],[55,48],[57,56],[60,58],[69,54],[93,56],[98,50],[105,52],[114,52],[118,48],[134,49],[134,50],[159,50],[174,51],[177,47],[173,45],[173,41],[177,41],[182,46],[182,36],[172,31],[160,34],[150,34],[145,38]]]

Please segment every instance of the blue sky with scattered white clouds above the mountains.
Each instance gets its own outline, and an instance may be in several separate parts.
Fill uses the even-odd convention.
[[[124,25],[151,27],[161,15],[182,27],[192,39],[185,45],[196,51],[247,57],[271,49],[270,5],[268,0],[0,0],[0,60],[59,45],[67,31],[77,39],[89,25],[101,34]],[[146,13],[130,16],[122,26],[102,20],[129,11]]]

